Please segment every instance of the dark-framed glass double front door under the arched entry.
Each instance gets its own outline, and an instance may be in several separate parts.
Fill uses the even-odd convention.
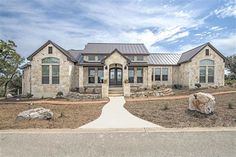
[[[114,86],[122,85],[122,69],[111,68],[109,72],[109,84]]]

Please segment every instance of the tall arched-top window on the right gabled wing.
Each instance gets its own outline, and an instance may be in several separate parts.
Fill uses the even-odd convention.
[[[203,59],[200,61],[200,83],[214,83],[214,61]]]

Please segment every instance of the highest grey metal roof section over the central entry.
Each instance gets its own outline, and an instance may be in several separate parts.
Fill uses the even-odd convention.
[[[114,49],[118,49],[122,54],[149,54],[141,43],[88,43],[83,54],[110,54]]]

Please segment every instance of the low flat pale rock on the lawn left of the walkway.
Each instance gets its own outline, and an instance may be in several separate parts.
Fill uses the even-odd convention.
[[[29,120],[29,119],[51,119],[53,117],[53,113],[49,109],[45,108],[35,108],[23,111],[19,113],[16,117],[17,120]]]

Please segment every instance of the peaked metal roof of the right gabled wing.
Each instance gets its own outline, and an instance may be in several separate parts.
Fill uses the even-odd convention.
[[[195,47],[189,51],[186,51],[182,53],[178,64],[190,62],[194,56],[196,56],[202,49],[204,49],[206,46],[209,46],[211,49],[213,49],[220,57],[222,57],[225,61],[224,55],[222,55],[214,46],[211,45],[211,43],[205,43],[203,45],[200,45],[198,47]]]

